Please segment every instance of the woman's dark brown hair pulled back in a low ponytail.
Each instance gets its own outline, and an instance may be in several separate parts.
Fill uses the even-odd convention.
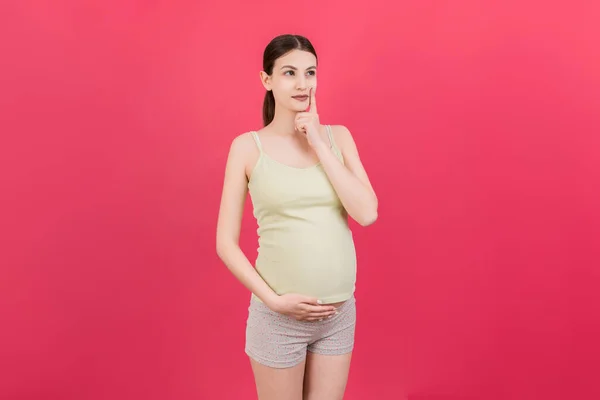
[[[300,35],[280,35],[271,40],[271,42],[265,48],[263,54],[263,71],[271,75],[273,73],[273,66],[275,61],[286,55],[292,50],[303,50],[312,53],[317,57],[313,45],[304,36]],[[273,121],[275,117],[275,97],[273,92],[267,90],[265,93],[265,100],[263,102],[263,124],[267,126]]]

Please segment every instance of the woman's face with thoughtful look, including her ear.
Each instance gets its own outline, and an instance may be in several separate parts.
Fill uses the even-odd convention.
[[[265,88],[273,91],[277,107],[304,111],[309,90],[317,89],[317,59],[308,51],[293,50],[275,61],[270,76],[261,75]]]

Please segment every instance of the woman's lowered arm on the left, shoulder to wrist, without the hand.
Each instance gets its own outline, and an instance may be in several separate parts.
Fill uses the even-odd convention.
[[[246,162],[252,154],[248,137],[238,136],[231,143],[219,219],[217,222],[217,254],[233,275],[269,307],[277,301],[277,294],[267,285],[239,246],[244,203],[248,193]]]

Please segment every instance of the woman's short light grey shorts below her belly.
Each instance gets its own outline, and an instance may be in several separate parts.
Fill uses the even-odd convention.
[[[252,298],[246,324],[246,354],[272,368],[301,363],[306,352],[341,355],[354,348],[356,300],[338,308],[338,314],[322,321],[297,321],[272,311]]]

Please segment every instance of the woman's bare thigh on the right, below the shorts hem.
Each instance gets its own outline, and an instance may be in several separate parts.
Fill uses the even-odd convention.
[[[342,400],[352,353],[330,356],[308,352],[304,375],[304,400]]]

